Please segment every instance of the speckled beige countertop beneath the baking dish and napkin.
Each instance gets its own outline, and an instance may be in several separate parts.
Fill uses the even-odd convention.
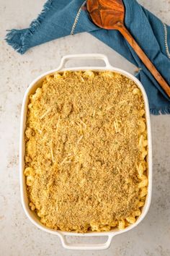
[[[66,54],[102,53],[109,56],[113,66],[128,72],[135,70],[122,56],[86,33],[32,48],[23,56],[14,52],[2,40],[5,30],[27,27],[44,2],[0,0],[0,256],[169,256],[170,116],[151,116],[153,200],[148,215],[137,228],[115,236],[109,249],[88,252],[63,249],[58,236],[40,231],[24,214],[19,194],[19,120],[22,97],[29,83],[42,72],[58,67],[61,56]],[[169,0],[140,0],[140,3],[170,23]],[[89,240],[102,242],[99,238]]]

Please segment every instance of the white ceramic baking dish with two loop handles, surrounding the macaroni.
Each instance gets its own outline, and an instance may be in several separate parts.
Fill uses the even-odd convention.
[[[97,59],[102,60],[105,63],[104,67],[73,67],[73,68],[65,68],[66,61],[68,60],[75,60],[75,59]],[[40,223],[39,218],[37,215],[30,210],[28,206],[28,199],[27,199],[27,192],[26,192],[26,183],[25,183],[25,177],[23,174],[24,171],[24,130],[25,130],[25,122],[26,122],[26,116],[27,116],[27,103],[29,101],[29,95],[31,93],[35,93],[35,90],[40,87],[41,82],[43,78],[47,74],[53,74],[53,72],[56,71],[64,71],[64,70],[109,70],[113,72],[117,72],[120,74],[125,75],[126,77],[133,80],[136,85],[138,85],[138,88],[140,88],[141,92],[143,93],[143,98],[145,101],[145,108],[146,108],[146,122],[147,122],[147,132],[148,132],[148,195],[146,198],[146,203],[143,207],[143,212],[139,216],[138,220],[130,225],[128,228],[124,230],[113,230],[109,232],[89,232],[86,234],[78,234],[75,232],[64,232],[64,231],[55,231],[53,229],[48,229],[42,223]],[[151,203],[151,190],[152,190],[152,145],[151,145],[151,123],[150,123],[150,114],[149,114],[149,106],[148,106],[148,98],[146,95],[146,91],[143,88],[143,85],[139,82],[138,79],[136,79],[132,74],[129,74],[128,72],[123,71],[122,69],[117,69],[115,67],[112,67],[109,64],[109,60],[107,59],[107,56],[104,56],[102,54],[79,54],[79,55],[69,55],[64,56],[61,59],[61,64],[57,69],[50,70],[48,72],[45,72],[44,74],[41,74],[39,77],[37,77],[29,87],[27,88],[26,92],[24,93],[24,99],[22,102],[22,116],[21,116],[21,126],[20,126],[20,141],[19,141],[19,171],[20,171],[20,188],[21,188],[21,197],[22,197],[22,206],[24,208],[24,212],[27,215],[27,217],[30,219],[32,223],[35,224],[39,229],[42,229],[43,231],[46,231],[50,234],[55,234],[61,237],[61,242],[63,244],[63,247],[67,249],[107,249],[109,245],[112,242],[112,238],[118,234],[125,233],[127,231],[130,231],[130,229],[135,228],[135,226],[140,223],[140,221],[143,220],[143,218],[146,216],[146,213],[148,213],[148,209]],[[107,242],[104,242],[103,244],[70,244],[66,241],[66,236],[107,236]]]

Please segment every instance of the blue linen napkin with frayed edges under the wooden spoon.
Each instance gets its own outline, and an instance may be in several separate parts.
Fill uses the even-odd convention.
[[[170,27],[158,20],[135,0],[123,0],[125,25],[155,67],[170,85]],[[9,43],[20,54],[41,43],[66,35],[88,32],[106,43],[138,67],[136,77],[142,82],[151,114],[170,114],[170,98],[161,89],[133,48],[116,30],[104,30],[91,21],[84,0],[48,0],[37,20],[23,30],[10,30]]]

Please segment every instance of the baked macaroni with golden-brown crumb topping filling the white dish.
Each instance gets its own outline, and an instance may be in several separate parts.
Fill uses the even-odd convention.
[[[45,226],[107,231],[140,215],[146,119],[132,80],[89,71],[46,77],[30,95],[25,140],[30,208]]]

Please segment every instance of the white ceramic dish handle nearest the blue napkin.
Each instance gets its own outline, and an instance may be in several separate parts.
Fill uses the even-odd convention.
[[[104,64],[106,68],[111,68],[112,66],[109,64],[109,59],[107,58],[106,55],[104,54],[71,54],[71,55],[66,55],[63,56],[63,58],[61,59],[61,64],[58,67],[58,70],[63,69],[64,67],[66,67],[66,62],[70,61],[70,60],[76,60],[76,59],[100,59],[102,61],[104,61]]]

